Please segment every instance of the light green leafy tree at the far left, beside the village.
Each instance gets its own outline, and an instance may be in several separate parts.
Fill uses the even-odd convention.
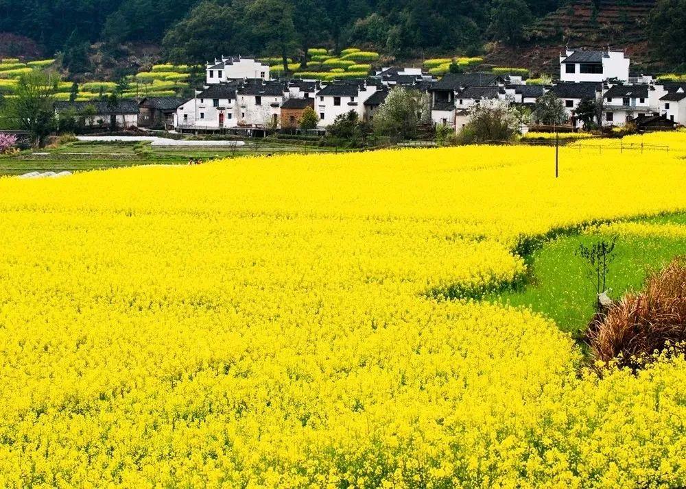
[[[55,127],[55,97],[51,77],[40,71],[23,75],[14,97],[5,99],[2,115],[14,127],[29,133],[34,147],[43,147]]]

